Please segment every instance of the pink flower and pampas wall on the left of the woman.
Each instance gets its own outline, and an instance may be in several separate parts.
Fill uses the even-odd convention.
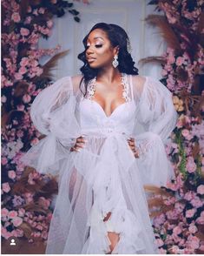
[[[82,1],[88,3],[88,1]],[[2,237],[46,240],[56,180],[24,168],[19,158],[41,138],[30,120],[30,104],[52,83],[56,61],[68,51],[38,49],[40,37],[51,34],[52,18],[80,13],[63,0],[2,1]],[[39,59],[49,55],[43,66]]]

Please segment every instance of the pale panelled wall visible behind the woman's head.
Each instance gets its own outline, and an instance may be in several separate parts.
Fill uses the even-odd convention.
[[[59,61],[54,73],[56,79],[80,73],[82,62],[77,59],[77,55],[83,50],[82,38],[98,22],[121,25],[130,37],[132,56],[139,73],[160,78],[159,66],[146,64],[142,67],[138,64],[142,57],[160,56],[166,47],[158,30],[144,22],[144,18],[155,10],[155,6],[148,5],[148,2],[149,0],[91,0],[89,5],[74,2],[76,10],[81,13],[81,22],[76,23],[69,13],[56,18],[52,36],[39,43],[40,48],[52,48],[60,44],[62,50],[69,49],[69,54]],[[42,64],[47,59],[44,57]]]

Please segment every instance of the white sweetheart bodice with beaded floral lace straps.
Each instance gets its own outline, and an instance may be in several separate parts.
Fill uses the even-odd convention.
[[[135,102],[133,98],[132,84],[128,84],[127,76],[122,76],[123,92],[122,98],[125,103],[120,104],[115,110],[107,116],[102,106],[94,98],[95,78],[88,84],[88,96],[82,98],[79,111],[82,132],[87,133],[113,133],[123,132],[131,134],[134,128]]]

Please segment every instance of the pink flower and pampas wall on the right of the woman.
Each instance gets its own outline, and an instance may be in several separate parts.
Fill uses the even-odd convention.
[[[168,44],[159,62],[161,82],[173,92],[179,118],[166,148],[176,179],[161,189],[147,186],[161,253],[204,253],[204,1],[152,0],[158,15],[148,24],[160,28]],[[162,15],[161,15],[162,11]]]

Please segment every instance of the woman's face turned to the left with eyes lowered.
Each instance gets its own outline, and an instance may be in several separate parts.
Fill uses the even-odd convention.
[[[87,39],[86,59],[93,69],[103,68],[112,64],[118,47],[112,47],[103,30],[93,30]]]

